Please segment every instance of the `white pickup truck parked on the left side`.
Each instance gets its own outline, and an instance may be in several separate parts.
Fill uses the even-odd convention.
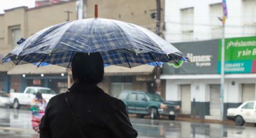
[[[33,99],[36,97],[36,93],[41,92],[43,98],[48,101],[56,95],[56,92],[52,91],[50,88],[44,87],[27,87],[23,93],[21,92],[11,92],[10,101],[11,107],[14,109],[19,109],[20,105],[31,105]]]

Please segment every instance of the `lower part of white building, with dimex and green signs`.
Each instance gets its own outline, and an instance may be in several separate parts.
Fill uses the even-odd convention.
[[[182,113],[220,119],[221,40],[174,43],[191,63],[175,68],[164,64],[166,100]],[[256,37],[228,38],[225,44],[224,116],[230,107],[256,100]]]

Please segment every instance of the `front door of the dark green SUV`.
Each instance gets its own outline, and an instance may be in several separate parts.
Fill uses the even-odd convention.
[[[136,110],[138,113],[147,113],[148,100],[145,94],[137,94]]]

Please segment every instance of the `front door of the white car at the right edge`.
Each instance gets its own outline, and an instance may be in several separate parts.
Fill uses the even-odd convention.
[[[243,105],[240,109],[240,115],[242,115],[245,122],[253,122],[255,113],[255,102],[249,101]]]

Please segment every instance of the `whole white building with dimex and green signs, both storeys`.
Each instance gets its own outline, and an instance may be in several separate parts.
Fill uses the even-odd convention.
[[[226,0],[226,4],[228,19],[225,37],[256,36],[256,1]],[[219,41],[216,39],[222,37],[222,22],[217,17],[222,17],[222,13],[222,0],[166,0],[164,37],[170,43],[174,43],[174,46],[183,45],[178,46],[178,49],[194,61],[191,65],[183,64],[179,69],[164,65],[164,72],[161,75],[161,79],[166,80],[166,100],[180,104],[184,114],[190,115],[195,112],[201,118],[220,118],[220,59],[217,57],[220,52],[214,49],[212,52],[205,52],[202,48],[219,48]],[[198,43],[181,43],[186,41]],[[256,37],[249,37],[248,41],[256,42]],[[256,48],[256,44],[253,47]],[[228,56],[231,57],[231,54]],[[206,60],[207,57],[209,61]],[[229,107],[237,107],[244,101],[256,100],[256,72],[253,71],[256,56],[249,60],[251,61],[248,67],[246,64],[244,71],[233,71],[225,75],[224,116]],[[225,70],[228,70],[228,62],[245,61],[240,58],[227,61]]]

